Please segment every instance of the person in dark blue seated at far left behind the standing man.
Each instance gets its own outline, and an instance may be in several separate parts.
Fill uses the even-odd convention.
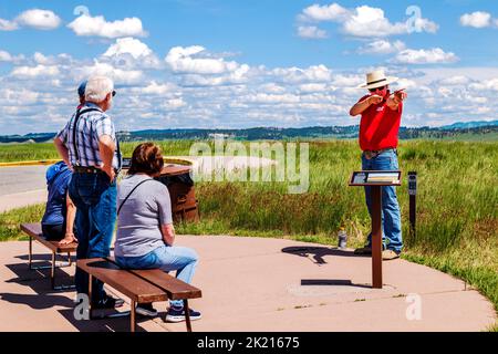
[[[73,230],[76,207],[68,195],[71,176],[72,173],[64,162],[46,169],[49,198],[42,219],[42,231],[48,240],[60,241],[60,244],[76,241]]]

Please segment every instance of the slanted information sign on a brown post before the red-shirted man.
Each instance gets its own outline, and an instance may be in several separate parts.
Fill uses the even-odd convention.
[[[382,289],[382,187],[401,186],[401,170],[360,170],[350,186],[371,187],[372,194],[372,288]]]

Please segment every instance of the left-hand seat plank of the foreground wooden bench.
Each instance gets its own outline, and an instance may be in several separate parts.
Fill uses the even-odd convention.
[[[77,260],[77,267],[137,303],[166,301],[167,293],[103,258]]]

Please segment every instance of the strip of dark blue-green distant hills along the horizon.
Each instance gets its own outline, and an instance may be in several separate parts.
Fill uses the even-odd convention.
[[[486,124],[484,124],[486,123]],[[293,139],[293,138],[356,138],[359,126],[312,126],[303,128],[255,127],[248,129],[146,129],[120,132],[123,142],[164,140],[164,139],[208,139],[225,136],[240,140]],[[456,138],[470,140],[479,136],[497,136],[498,121],[455,123],[447,127],[401,127],[401,139],[413,138]],[[41,143],[53,139],[55,133],[0,136],[0,143]],[[495,139],[495,138],[494,138]]]

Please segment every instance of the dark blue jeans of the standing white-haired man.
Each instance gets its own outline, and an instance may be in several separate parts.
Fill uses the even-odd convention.
[[[69,194],[76,206],[76,259],[108,257],[116,222],[116,181],[105,174],[74,173]],[[89,293],[86,272],[76,268],[74,281],[79,293]],[[94,279],[92,289],[92,302],[106,296],[101,281]]]

